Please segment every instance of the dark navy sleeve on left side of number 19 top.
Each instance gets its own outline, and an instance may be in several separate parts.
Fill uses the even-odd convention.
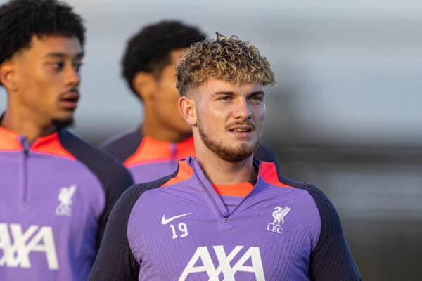
[[[139,187],[124,192],[113,207],[103,241],[91,268],[90,281],[138,280],[139,263],[136,261],[127,238],[129,215],[139,197]]]

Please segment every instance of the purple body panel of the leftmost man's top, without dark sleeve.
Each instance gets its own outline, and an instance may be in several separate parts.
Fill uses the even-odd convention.
[[[0,151],[0,191],[0,280],[87,280],[106,200],[87,166]]]

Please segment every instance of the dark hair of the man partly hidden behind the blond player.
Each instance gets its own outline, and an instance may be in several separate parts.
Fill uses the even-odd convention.
[[[162,69],[170,64],[171,51],[188,48],[203,39],[205,34],[197,27],[176,20],[164,20],[147,25],[134,34],[127,43],[122,58],[122,75],[130,89],[136,93],[132,80],[137,72],[152,73],[154,77],[160,78]]]

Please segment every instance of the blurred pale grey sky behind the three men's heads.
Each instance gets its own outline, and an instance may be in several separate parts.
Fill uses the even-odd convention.
[[[5,1],[0,1],[4,3]],[[141,105],[120,77],[131,34],[162,19],[251,41],[269,58],[264,136],[287,143],[419,146],[422,4],[419,1],[68,1],[87,23],[75,131],[134,128]],[[6,103],[0,91],[0,109]],[[271,136],[270,136],[271,134]]]

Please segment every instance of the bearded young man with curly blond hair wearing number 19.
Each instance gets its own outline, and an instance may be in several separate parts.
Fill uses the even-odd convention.
[[[360,280],[327,197],[253,159],[274,84],[257,48],[217,34],[177,81],[196,159],[122,195],[91,280]]]

